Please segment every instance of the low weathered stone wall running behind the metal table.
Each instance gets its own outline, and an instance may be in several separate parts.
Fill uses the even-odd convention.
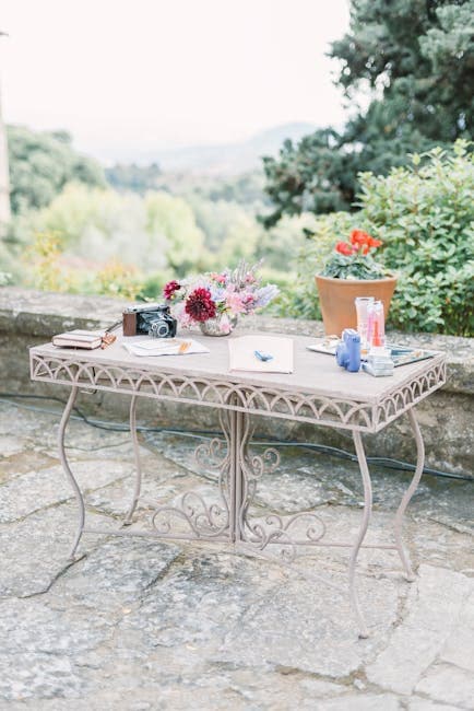
[[[68,388],[32,383],[28,347],[50,340],[57,333],[72,328],[109,326],[121,314],[123,302],[104,296],[80,296],[0,288],[0,392],[66,397]],[[319,322],[286,318],[248,317],[246,327],[262,331],[322,335]],[[448,356],[446,386],[423,401],[418,420],[423,429],[429,466],[473,476],[473,340],[429,334],[390,333],[391,340],[443,350]],[[107,393],[84,394],[79,406],[102,419],[123,421],[129,398]],[[173,403],[152,403],[143,398],[139,419],[170,428],[217,428],[211,408],[197,409]],[[262,418],[259,434],[284,440],[311,441],[352,448],[351,435],[329,428]],[[413,461],[414,444],[405,418],[377,435],[365,438],[371,456],[391,456]]]

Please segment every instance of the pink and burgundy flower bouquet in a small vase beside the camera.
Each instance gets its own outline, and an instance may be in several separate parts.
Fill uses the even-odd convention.
[[[163,294],[181,328],[199,326],[206,336],[228,336],[240,314],[263,308],[279,293],[275,284],[261,284],[256,273],[259,266],[241,261],[234,270],[174,280]]]

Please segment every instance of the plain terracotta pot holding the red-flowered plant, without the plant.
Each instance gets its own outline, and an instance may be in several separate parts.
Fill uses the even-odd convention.
[[[387,319],[396,277],[362,280],[331,279],[316,275],[315,279],[327,336],[341,336],[344,328],[357,327],[356,296],[374,296],[377,301],[382,301]]]

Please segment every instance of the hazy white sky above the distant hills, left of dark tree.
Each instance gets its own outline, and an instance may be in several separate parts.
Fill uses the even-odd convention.
[[[225,142],[341,124],[347,0],[1,0],[3,114],[78,148]]]

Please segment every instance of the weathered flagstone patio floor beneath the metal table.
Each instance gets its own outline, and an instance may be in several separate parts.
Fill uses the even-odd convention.
[[[59,410],[20,405],[0,403],[0,709],[474,709],[473,481],[422,480],[405,525],[415,583],[395,552],[360,552],[372,636],[359,640],[346,549],[316,549],[303,574],[230,546],[84,535],[69,563],[76,509],[56,451]],[[90,520],[117,525],[133,481],[129,435],[76,419],[67,442]],[[147,499],[212,491],[215,475],[193,462],[199,441],[141,442]],[[371,469],[368,540],[390,540],[411,475]],[[316,509],[347,537],[362,498],[353,463],[285,447],[254,511]]]

